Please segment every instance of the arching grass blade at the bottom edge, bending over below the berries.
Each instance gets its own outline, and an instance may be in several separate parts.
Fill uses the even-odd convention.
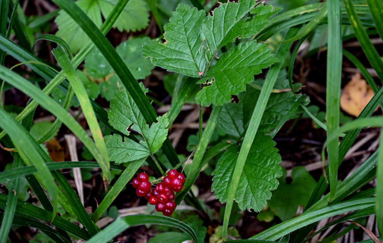
[[[127,228],[142,224],[166,225],[170,227],[179,228],[180,230],[183,230],[188,235],[190,235],[191,239],[195,243],[198,243],[198,239],[195,232],[187,224],[169,217],[142,214],[130,215],[116,219],[115,222],[111,223],[108,227],[101,230],[99,233],[97,233],[97,235],[90,238],[87,242],[106,243],[113,239],[115,236],[117,236],[119,233],[126,230]]]

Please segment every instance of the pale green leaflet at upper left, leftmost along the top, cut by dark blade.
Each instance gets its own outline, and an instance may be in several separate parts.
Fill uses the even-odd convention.
[[[76,4],[88,15],[97,27],[101,26],[101,13],[97,1],[79,0]],[[54,21],[59,27],[56,36],[64,39],[73,53],[77,53],[90,40],[76,21],[74,21],[64,10],[59,11],[59,16],[57,16]]]

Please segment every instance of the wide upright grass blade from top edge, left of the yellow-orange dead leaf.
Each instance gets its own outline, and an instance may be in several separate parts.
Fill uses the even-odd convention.
[[[328,44],[326,77],[326,117],[327,137],[339,127],[340,83],[342,76],[342,29],[338,0],[328,0]],[[328,146],[330,200],[334,197],[338,181],[339,140]]]

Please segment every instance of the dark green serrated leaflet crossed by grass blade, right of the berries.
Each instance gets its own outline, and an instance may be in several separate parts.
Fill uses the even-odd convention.
[[[270,137],[257,133],[250,148],[244,170],[234,199],[241,210],[254,209],[259,212],[271,197],[271,191],[277,189],[277,178],[282,176],[280,162],[282,158],[274,148],[275,142]],[[231,183],[231,176],[237,162],[239,147],[229,148],[219,158],[213,171],[211,191],[220,202],[226,202]]]

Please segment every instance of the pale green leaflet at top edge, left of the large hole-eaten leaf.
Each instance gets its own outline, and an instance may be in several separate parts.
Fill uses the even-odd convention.
[[[108,17],[118,0],[97,0],[104,18]],[[138,31],[149,24],[149,5],[145,0],[129,0],[113,28],[119,31]]]

